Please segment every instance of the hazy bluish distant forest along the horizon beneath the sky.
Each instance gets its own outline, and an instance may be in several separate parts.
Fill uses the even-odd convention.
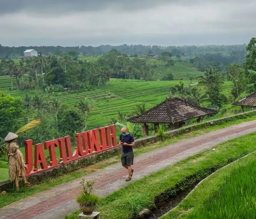
[[[109,53],[111,49],[116,49],[121,54],[127,55],[161,55],[163,52],[170,52],[173,56],[177,55],[199,55],[206,53],[225,53],[231,55],[233,51],[245,52],[246,44],[243,45],[204,45],[204,46],[168,46],[161,47],[157,45],[101,45],[98,47],[92,46],[77,46],[77,47],[61,47],[61,46],[40,46],[40,47],[4,47],[0,44],[0,58],[17,58],[23,55],[26,49],[35,49],[37,52],[42,52],[43,55],[55,54],[59,51],[68,53],[69,51],[77,51],[83,55],[103,55]]]

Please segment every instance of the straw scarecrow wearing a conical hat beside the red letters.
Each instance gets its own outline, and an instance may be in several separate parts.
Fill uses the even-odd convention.
[[[26,170],[28,167],[25,165],[23,154],[19,150],[18,143],[15,142],[18,135],[9,132],[5,137],[6,152],[9,160],[9,179],[11,182],[15,181],[16,188],[19,189],[19,176],[22,176],[25,184],[29,184],[26,180]]]

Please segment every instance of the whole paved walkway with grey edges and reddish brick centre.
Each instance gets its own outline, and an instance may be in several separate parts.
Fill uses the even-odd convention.
[[[60,218],[78,209],[76,195],[81,191],[81,179],[95,181],[95,193],[106,196],[132,181],[157,172],[189,156],[210,149],[222,142],[231,140],[256,131],[256,120],[244,122],[192,137],[171,145],[154,149],[135,157],[134,175],[130,182],[125,182],[126,169],[121,164],[114,164],[91,172],[79,179],[64,183],[54,188],[29,196],[0,209],[0,219],[3,218]]]

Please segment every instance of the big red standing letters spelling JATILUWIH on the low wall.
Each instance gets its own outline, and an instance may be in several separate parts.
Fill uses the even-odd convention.
[[[100,136],[100,139],[98,136]],[[35,144],[34,164],[32,149],[33,140],[24,141],[26,166],[28,167],[28,170],[26,170],[26,176],[49,170],[53,167],[60,166],[63,163],[66,164],[68,162],[117,147],[116,126],[112,125],[77,133],[76,141],[77,147],[74,148],[74,152],[72,152],[70,136],[46,141],[44,142],[44,149],[42,143]],[[62,164],[58,163],[55,152],[56,147],[59,147],[59,161],[63,161]],[[50,166],[47,165],[44,150],[49,150]],[[38,169],[39,164],[41,169]],[[34,170],[32,170],[33,166]]]

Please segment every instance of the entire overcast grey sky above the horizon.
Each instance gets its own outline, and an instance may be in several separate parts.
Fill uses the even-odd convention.
[[[243,44],[255,0],[0,0],[0,44]]]

